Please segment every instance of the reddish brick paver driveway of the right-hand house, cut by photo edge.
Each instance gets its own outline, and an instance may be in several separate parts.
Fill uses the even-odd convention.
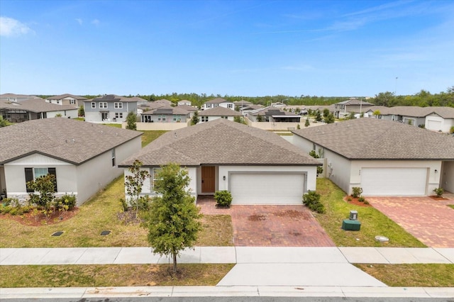
[[[374,208],[428,247],[454,247],[454,198],[367,197]]]

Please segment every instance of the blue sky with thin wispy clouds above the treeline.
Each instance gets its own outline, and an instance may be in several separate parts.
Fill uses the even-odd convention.
[[[0,1],[0,94],[375,96],[454,86],[454,1]]]

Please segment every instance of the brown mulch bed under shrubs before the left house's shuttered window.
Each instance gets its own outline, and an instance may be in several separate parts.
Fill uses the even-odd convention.
[[[55,225],[73,218],[77,213],[79,213],[79,208],[76,206],[71,211],[66,211],[63,215],[59,211],[52,212],[48,219],[43,214],[35,216],[33,212],[23,213],[23,215],[1,214],[0,219],[15,220],[22,225],[28,226]]]

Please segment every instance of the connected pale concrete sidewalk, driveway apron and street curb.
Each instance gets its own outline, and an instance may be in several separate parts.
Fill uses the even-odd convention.
[[[150,247],[5,248],[0,265],[165,264]],[[196,247],[179,263],[236,263],[217,286],[106,289],[0,289],[1,298],[111,296],[411,296],[454,297],[454,289],[392,288],[352,263],[454,264],[453,248]],[[22,295],[22,296],[21,296]],[[52,296],[54,297],[54,296]]]

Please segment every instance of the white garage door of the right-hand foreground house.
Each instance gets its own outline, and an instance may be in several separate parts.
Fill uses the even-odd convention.
[[[362,168],[362,194],[367,196],[426,195],[426,168]]]

